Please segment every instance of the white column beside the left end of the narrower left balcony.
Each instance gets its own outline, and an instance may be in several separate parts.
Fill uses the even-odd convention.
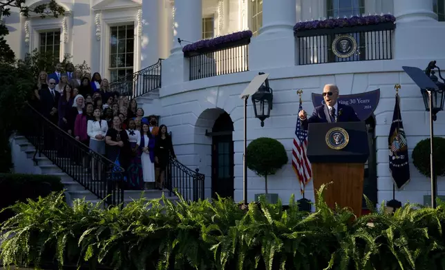
[[[182,54],[182,46],[202,37],[202,0],[176,0],[171,54]],[[184,40],[182,44],[178,39]]]

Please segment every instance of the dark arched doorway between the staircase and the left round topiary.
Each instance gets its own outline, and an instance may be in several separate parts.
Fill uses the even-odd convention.
[[[207,135],[211,144],[211,196],[234,198],[234,123],[227,112],[221,114]]]

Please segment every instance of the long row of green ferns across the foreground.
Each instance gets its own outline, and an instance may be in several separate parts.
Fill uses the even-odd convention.
[[[355,219],[323,200],[309,214],[294,198],[285,211],[281,202],[245,211],[228,199],[164,197],[103,209],[84,200],[68,207],[52,194],[12,207],[19,214],[0,229],[0,260],[39,267],[43,251],[53,252],[58,269],[442,269],[443,203],[404,205],[394,215],[367,203],[371,213]]]

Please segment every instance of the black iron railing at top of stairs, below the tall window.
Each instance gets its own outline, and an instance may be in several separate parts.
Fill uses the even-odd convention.
[[[128,76],[110,83],[110,90],[120,96],[136,98],[161,87],[162,60]]]

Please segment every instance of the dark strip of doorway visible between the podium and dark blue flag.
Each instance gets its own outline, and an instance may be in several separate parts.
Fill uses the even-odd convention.
[[[371,115],[366,119],[366,130],[368,131],[369,158],[365,164],[365,177],[363,179],[363,194],[373,203],[377,204],[377,148],[375,141],[375,116]],[[363,208],[366,201],[363,197]]]

